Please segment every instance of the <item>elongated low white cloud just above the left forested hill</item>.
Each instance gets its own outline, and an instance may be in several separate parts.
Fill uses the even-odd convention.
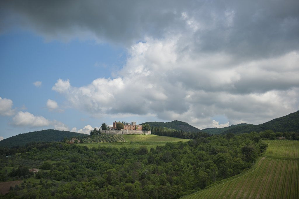
[[[42,116],[34,116],[30,112],[19,111],[13,117],[13,123],[17,126],[43,127],[49,126],[50,121]]]

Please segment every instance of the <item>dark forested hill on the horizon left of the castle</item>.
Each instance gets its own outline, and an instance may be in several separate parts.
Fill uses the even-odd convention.
[[[13,146],[25,146],[29,142],[52,142],[59,141],[71,137],[82,137],[86,136],[83,133],[76,133],[70,131],[59,131],[59,130],[41,130],[28,133],[22,133],[19,135],[12,136],[0,141],[1,146],[13,147]]]

